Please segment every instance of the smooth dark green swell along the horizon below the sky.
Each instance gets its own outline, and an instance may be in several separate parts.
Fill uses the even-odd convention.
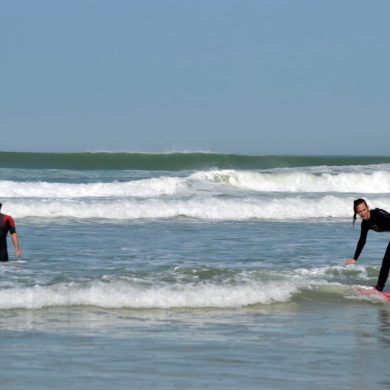
[[[387,156],[252,156],[218,153],[0,152],[0,167],[28,169],[200,170],[389,164]]]

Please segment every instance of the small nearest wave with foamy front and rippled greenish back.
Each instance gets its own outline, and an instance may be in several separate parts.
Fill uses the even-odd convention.
[[[96,306],[107,309],[243,308],[294,301],[355,298],[377,267],[329,265],[282,272],[233,269],[177,270],[110,276],[83,282],[20,286],[2,283],[0,310]],[[168,277],[167,277],[168,276]],[[359,297],[358,297],[359,298]]]

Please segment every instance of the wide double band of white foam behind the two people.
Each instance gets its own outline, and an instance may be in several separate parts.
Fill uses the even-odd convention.
[[[4,212],[17,218],[350,218],[355,194],[361,193],[370,194],[367,200],[374,207],[390,209],[390,167],[365,172],[332,167],[213,170],[126,182],[0,181],[0,199],[10,200]]]

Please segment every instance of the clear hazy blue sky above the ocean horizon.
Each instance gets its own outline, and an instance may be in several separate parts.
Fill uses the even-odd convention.
[[[388,0],[0,0],[0,150],[389,155]]]

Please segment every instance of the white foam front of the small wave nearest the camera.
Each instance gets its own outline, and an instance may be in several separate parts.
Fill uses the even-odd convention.
[[[298,287],[292,283],[252,283],[239,286],[216,284],[170,285],[140,288],[128,282],[89,285],[76,283],[0,290],[0,309],[40,309],[53,306],[104,308],[237,308],[286,302]]]

